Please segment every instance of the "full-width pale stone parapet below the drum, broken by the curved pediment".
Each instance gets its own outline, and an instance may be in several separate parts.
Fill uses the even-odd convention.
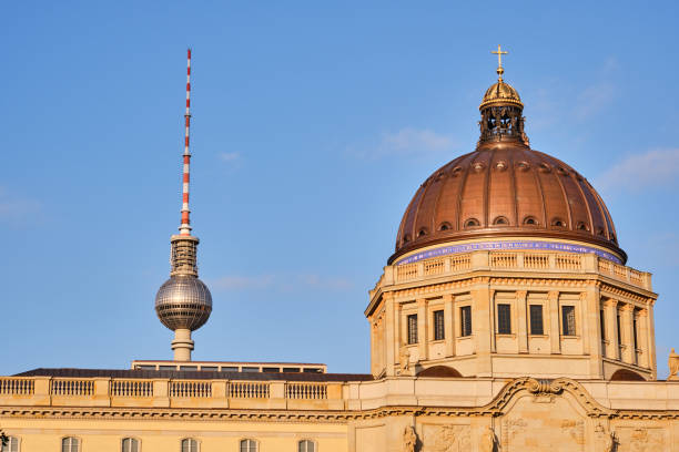
[[[375,381],[293,382],[1,377],[0,407],[374,410],[389,405],[472,409],[519,379],[394,377]],[[559,381],[564,379],[558,379]],[[611,410],[679,410],[679,381],[584,380],[574,386]]]

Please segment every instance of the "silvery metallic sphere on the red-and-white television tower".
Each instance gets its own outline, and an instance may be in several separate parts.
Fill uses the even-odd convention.
[[[171,330],[194,331],[212,312],[212,295],[207,286],[193,276],[173,276],[155,295],[155,314]]]

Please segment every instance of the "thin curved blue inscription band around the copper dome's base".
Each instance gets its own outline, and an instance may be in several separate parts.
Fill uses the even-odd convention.
[[[414,254],[407,258],[399,260],[396,265],[412,264],[432,257],[446,256],[458,253],[470,253],[478,250],[505,250],[505,249],[548,249],[551,251],[566,253],[594,253],[604,259],[612,260],[614,263],[622,264],[619,257],[611,253],[604,251],[598,248],[591,248],[582,245],[565,244],[560,242],[482,242],[464,245],[443,246],[440,248],[427,249],[426,251]]]

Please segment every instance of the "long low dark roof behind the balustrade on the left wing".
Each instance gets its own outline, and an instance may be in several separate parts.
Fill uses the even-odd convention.
[[[38,368],[17,373],[13,377],[57,377],[57,378],[129,378],[174,380],[256,380],[256,381],[369,381],[369,373],[275,373],[275,372],[211,372],[176,370],[132,370],[132,369],[72,369]]]

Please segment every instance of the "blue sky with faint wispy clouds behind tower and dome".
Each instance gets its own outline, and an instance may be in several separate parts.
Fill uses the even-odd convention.
[[[185,50],[196,360],[368,372],[367,290],[505,78],[534,148],[602,195],[679,348],[675,1],[6,1],[0,374],[171,359],[155,317],[179,226]]]

